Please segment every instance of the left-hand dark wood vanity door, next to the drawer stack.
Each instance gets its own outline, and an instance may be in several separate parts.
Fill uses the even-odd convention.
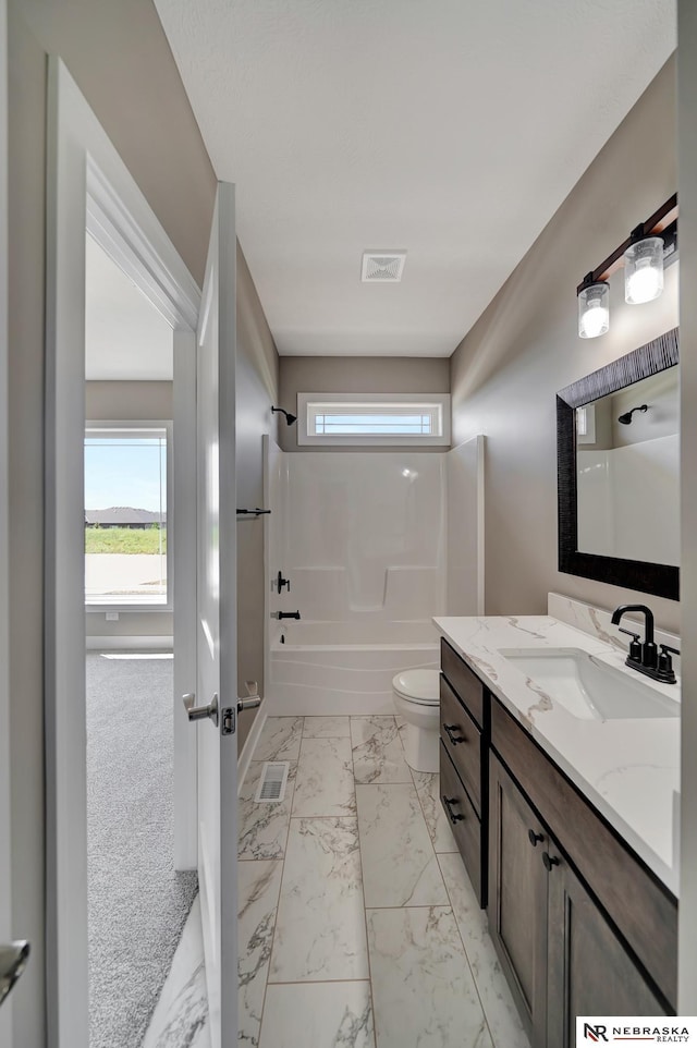
[[[517,785],[491,754],[489,765],[489,931],[533,1048],[546,1044],[549,846]]]

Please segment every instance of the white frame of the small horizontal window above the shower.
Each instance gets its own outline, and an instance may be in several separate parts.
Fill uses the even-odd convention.
[[[360,407],[384,404],[391,411],[421,409],[438,414],[441,431],[438,434],[317,434],[313,431],[313,418],[327,405],[338,405],[346,412]],[[355,448],[377,447],[450,447],[450,393],[298,393],[297,442],[301,446],[334,446]]]

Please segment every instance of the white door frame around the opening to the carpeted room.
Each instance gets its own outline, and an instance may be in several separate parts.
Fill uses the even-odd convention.
[[[174,512],[178,483],[195,504],[196,326],[200,291],[145,196],[60,58],[49,59],[47,142],[47,328],[45,474],[45,703],[47,1011],[49,1048],[88,1048],[87,828],[83,447],[85,381],[85,230],[130,276],[174,331]],[[182,412],[181,417],[176,410]],[[179,432],[178,432],[179,430]],[[194,463],[195,463],[195,450]],[[188,472],[185,467],[188,466]],[[179,476],[179,482],[178,482]],[[192,493],[193,492],[193,493]],[[176,663],[195,673],[187,593],[195,580],[195,523],[186,512],[174,540]],[[176,536],[176,537],[174,537]],[[183,573],[180,580],[180,574]],[[178,597],[178,592],[182,597]],[[195,609],[193,611],[195,616]],[[195,679],[195,678],[194,678]],[[176,694],[176,692],[175,692]],[[176,861],[196,853],[196,754],[174,705],[175,803],[184,809]]]

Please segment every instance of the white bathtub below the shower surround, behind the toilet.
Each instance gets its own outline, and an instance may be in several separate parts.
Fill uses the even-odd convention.
[[[274,716],[393,714],[394,674],[438,666],[430,620],[284,622],[271,641],[266,709]]]

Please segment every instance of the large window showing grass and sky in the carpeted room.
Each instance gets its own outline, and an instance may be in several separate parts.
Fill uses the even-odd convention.
[[[170,607],[169,435],[162,423],[85,430],[85,602],[93,609]]]

